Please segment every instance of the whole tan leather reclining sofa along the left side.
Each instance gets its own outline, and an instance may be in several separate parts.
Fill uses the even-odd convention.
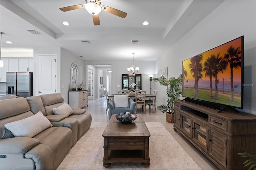
[[[62,104],[64,98],[60,93],[0,101],[1,170],[54,170],[59,166],[70,148],[87,132],[92,122],[91,114],[86,113],[84,109],[72,108],[73,113],[69,116],[54,115],[53,108],[58,108]],[[34,117],[37,117],[34,122],[21,124],[20,130],[14,129],[18,129],[18,133],[6,128],[10,127],[7,126],[8,123],[16,125],[17,122],[33,120]],[[37,126],[48,122],[50,127],[44,127],[45,129],[35,136],[32,134],[29,137],[16,137],[26,130],[37,130]]]

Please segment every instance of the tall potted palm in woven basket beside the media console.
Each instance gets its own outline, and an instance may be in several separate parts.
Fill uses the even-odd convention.
[[[166,122],[174,123],[174,100],[180,99],[180,95],[182,93],[182,74],[178,75],[177,78],[170,77],[169,80],[164,76],[160,76],[152,79],[152,81],[159,82],[160,85],[167,86],[167,104],[158,105],[156,108],[162,113],[166,113]]]

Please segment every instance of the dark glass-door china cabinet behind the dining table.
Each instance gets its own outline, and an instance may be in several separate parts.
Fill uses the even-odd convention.
[[[141,87],[141,74],[122,74],[122,89],[129,89],[135,83],[134,89],[142,89]]]

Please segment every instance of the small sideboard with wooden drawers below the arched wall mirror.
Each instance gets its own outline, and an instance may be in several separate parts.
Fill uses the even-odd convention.
[[[68,104],[72,108],[82,108],[88,106],[88,90],[69,91]]]

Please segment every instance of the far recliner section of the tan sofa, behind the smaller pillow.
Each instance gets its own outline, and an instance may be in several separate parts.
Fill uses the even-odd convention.
[[[27,97],[26,99],[30,105],[30,111],[32,111],[32,113],[36,114],[38,111],[41,111],[54,127],[65,126],[72,129],[72,146],[89,130],[91,126],[92,116],[90,113],[86,113],[85,109],[72,108],[73,113],[68,117],[64,115],[54,115],[53,108],[64,104],[64,98],[60,93],[32,96]],[[74,120],[76,120],[77,127]]]

